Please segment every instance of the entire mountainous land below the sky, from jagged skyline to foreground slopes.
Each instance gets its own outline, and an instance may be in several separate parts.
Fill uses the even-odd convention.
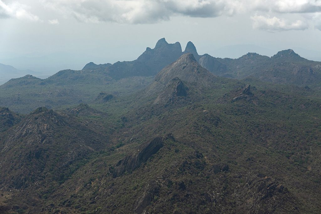
[[[0,86],[0,212],[320,213],[320,62],[160,39]]]

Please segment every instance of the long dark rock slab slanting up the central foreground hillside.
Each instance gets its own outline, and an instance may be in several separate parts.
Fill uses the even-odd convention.
[[[172,135],[166,137],[156,137],[151,142],[143,144],[132,155],[127,155],[111,169],[113,177],[119,177],[126,172],[131,173],[133,170],[140,167],[145,163],[152,155],[154,155],[160,148],[163,147],[164,141],[168,139],[174,139]]]

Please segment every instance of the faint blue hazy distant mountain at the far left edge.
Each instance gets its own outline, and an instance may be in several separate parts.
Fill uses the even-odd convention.
[[[11,65],[5,65],[0,63],[0,85],[2,85],[10,79],[25,76],[27,74],[39,75],[39,73],[36,73],[31,70],[18,70]]]

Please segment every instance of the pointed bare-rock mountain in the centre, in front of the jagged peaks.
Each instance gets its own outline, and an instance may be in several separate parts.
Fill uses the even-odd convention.
[[[213,86],[216,81],[217,78],[212,73],[197,63],[193,54],[187,53],[163,68],[145,90],[145,95],[158,94],[154,104],[168,105],[169,101],[191,98],[192,94],[195,96],[195,93],[201,93],[204,88]]]

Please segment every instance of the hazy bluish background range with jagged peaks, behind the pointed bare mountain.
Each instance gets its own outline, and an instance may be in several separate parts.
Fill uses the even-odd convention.
[[[0,105],[28,113],[40,106],[53,108],[88,103],[98,95],[98,91],[128,94],[149,85],[161,69],[186,53],[192,53],[203,68],[220,77],[249,78],[310,88],[321,86],[321,62],[304,59],[290,49],[272,57],[248,53],[238,59],[221,59],[208,54],[198,55],[192,42],[188,42],[182,51],[179,42],[169,44],[163,38],[153,49],[147,47],[134,61],[114,64],[91,62],[80,71],[62,70],[47,79],[30,75],[12,79],[0,86]]]

